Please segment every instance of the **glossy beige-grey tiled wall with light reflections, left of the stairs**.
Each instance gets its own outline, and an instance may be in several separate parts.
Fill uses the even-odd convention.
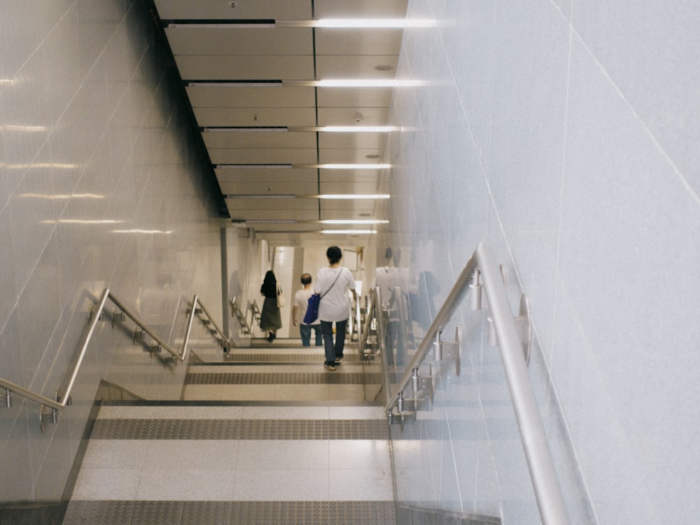
[[[48,397],[104,288],[171,341],[181,297],[221,318],[214,191],[141,6],[0,3],[0,377]],[[100,378],[179,394],[130,330],[98,325],[57,426],[0,408],[0,500],[61,497]]]

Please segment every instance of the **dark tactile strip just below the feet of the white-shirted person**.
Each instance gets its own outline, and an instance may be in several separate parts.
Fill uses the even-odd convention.
[[[321,372],[204,372],[187,374],[185,384],[379,384],[381,374]]]

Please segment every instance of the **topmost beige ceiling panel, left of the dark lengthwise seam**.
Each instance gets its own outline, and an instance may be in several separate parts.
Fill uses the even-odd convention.
[[[382,0],[378,0],[380,3]],[[318,0],[316,0],[318,2]],[[155,0],[162,20],[307,20],[311,18],[311,0]],[[405,8],[404,8],[405,12]]]

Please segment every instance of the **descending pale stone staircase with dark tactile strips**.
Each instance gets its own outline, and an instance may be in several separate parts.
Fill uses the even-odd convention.
[[[262,341],[262,339],[261,339]],[[381,365],[197,351],[180,400],[100,408],[64,525],[395,524]]]

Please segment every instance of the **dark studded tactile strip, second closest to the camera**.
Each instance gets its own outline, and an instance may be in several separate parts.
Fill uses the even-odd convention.
[[[98,419],[98,440],[386,440],[384,419]]]

